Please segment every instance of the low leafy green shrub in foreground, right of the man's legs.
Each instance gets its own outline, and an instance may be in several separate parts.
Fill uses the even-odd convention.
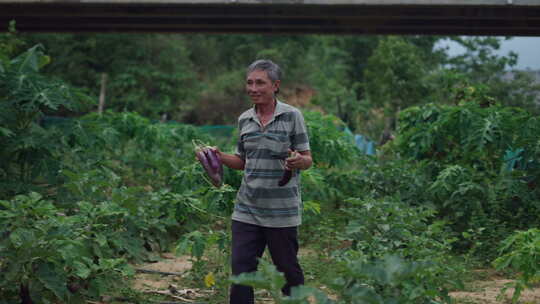
[[[455,238],[446,223],[436,220],[433,209],[411,207],[392,198],[354,198],[347,203],[343,239],[351,248],[342,253],[347,261],[342,265],[345,282],[339,284],[343,293],[364,294],[377,301],[402,294],[403,298],[384,300],[396,303],[450,301],[449,288],[462,286],[462,270],[457,261],[448,262],[453,260]],[[366,282],[375,285],[363,285]],[[349,295],[351,300],[356,296]]]

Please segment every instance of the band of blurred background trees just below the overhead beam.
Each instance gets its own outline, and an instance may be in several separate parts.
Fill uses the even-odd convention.
[[[54,60],[45,68],[96,100],[107,75],[105,109],[152,119],[234,124],[249,106],[245,67],[269,58],[284,69],[282,97],[306,89],[311,103],[355,132],[377,139],[410,105],[451,102],[456,88],[484,86],[508,105],[538,109],[538,86],[526,74],[504,73],[515,54],[495,56],[498,38],[451,39],[467,50],[449,57],[437,36],[333,35],[28,35]],[[517,75],[517,76],[516,76]],[[292,96],[294,97],[294,96]],[[292,98],[291,98],[292,99]]]

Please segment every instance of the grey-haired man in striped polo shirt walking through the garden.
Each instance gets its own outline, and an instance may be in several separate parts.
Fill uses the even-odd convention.
[[[246,92],[254,106],[238,118],[235,154],[216,152],[229,168],[244,170],[232,214],[233,275],[256,271],[268,246],[287,279],[282,291],[289,295],[291,287],[304,283],[297,258],[302,215],[298,170],[308,169],[312,158],[302,113],[276,98],[280,76],[279,66],[270,60],[248,67]],[[284,174],[291,174],[288,182]],[[230,303],[253,304],[253,289],[233,285]]]

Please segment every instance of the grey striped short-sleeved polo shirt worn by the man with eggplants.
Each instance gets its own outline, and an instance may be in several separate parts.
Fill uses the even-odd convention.
[[[284,186],[287,151],[308,151],[304,117],[293,106],[277,101],[274,117],[262,128],[255,107],[238,118],[236,155],[245,161],[244,177],[232,219],[264,227],[292,227],[302,222],[300,174]]]

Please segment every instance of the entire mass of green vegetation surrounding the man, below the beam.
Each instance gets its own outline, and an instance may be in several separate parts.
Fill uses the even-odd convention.
[[[32,39],[55,59],[40,45],[17,56]],[[489,258],[499,240],[536,222],[540,124],[497,103],[531,108],[534,95],[499,81],[513,62],[490,55],[497,40],[471,40],[478,52],[444,62],[429,57],[437,39],[1,35],[0,297],[97,299],[132,274],[127,261],[154,260],[171,246],[191,254],[199,279],[212,250],[227,257],[242,173],[226,169],[221,188],[205,183],[191,142],[217,140],[155,120],[233,124],[249,106],[244,67],[265,57],[287,72],[284,100],[310,85],[322,109],[305,111],[314,167],[302,172],[303,229],[309,241],[324,237],[317,246],[336,265],[327,285],[337,299],[310,286],[283,297],[282,275],[265,262],[233,282],[268,289],[276,303],[449,302],[462,271],[452,249]],[[96,95],[104,73],[112,110],[46,117],[72,115],[87,99],[50,75]],[[415,106],[428,100],[437,103]],[[398,134],[365,156],[346,127]],[[232,151],[234,138],[219,144]],[[13,197],[29,190],[42,194]],[[507,241],[501,265],[536,263],[536,241]],[[225,276],[222,266],[216,273]]]

